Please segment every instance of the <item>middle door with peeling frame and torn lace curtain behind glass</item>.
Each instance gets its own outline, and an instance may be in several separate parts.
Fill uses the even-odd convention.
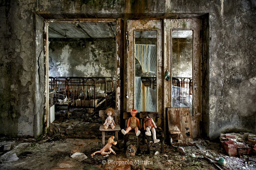
[[[127,30],[127,111],[161,111],[162,22],[128,20]]]

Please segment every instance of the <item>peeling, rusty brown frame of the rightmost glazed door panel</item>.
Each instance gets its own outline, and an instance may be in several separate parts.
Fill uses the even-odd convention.
[[[201,60],[202,60],[202,40],[200,31],[202,23],[200,19],[166,19],[164,21],[166,34],[166,45],[164,45],[164,55],[166,56],[166,70],[172,71],[172,30],[192,30],[193,31],[193,59],[192,59],[192,75],[193,75],[193,116],[192,128],[193,137],[200,136],[200,122],[202,113],[202,76],[201,76]],[[170,32],[169,32],[170,31]],[[170,90],[171,89],[171,90]],[[172,91],[172,83],[166,82],[165,91]],[[166,107],[171,107],[171,95],[165,96]],[[168,102],[167,102],[168,101]],[[170,101],[170,102],[169,102]],[[197,114],[199,113],[199,114]]]

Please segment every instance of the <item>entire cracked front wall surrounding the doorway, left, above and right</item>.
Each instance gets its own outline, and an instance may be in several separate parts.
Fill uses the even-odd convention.
[[[36,7],[31,0],[0,4],[0,133],[33,135]],[[39,0],[38,11],[52,19],[209,13],[202,60],[204,133],[211,139],[233,130],[256,133],[256,0]]]

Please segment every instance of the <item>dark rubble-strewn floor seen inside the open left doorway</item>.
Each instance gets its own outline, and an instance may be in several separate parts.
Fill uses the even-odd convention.
[[[55,121],[49,124],[46,138],[47,139],[66,139],[66,138],[101,139],[101,132],[100,131],[95,132],[94,130],[95,127],[98,128],[101,125],[101,123],[102,123],[102,119],[99,118],[99,113],[97,112],[88,113],[87,109],[76,108],[70,111],[64,111],[64,110],[56,111]]]

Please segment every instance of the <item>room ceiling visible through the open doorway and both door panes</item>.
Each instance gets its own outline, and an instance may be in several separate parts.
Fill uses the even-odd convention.
[[[114,38],[115,22],[49,23],[49,38]],[[157,38],[157,31],[135,31],[135,38]],[[192,30],[173,30],[172,38],[192,38]]]

